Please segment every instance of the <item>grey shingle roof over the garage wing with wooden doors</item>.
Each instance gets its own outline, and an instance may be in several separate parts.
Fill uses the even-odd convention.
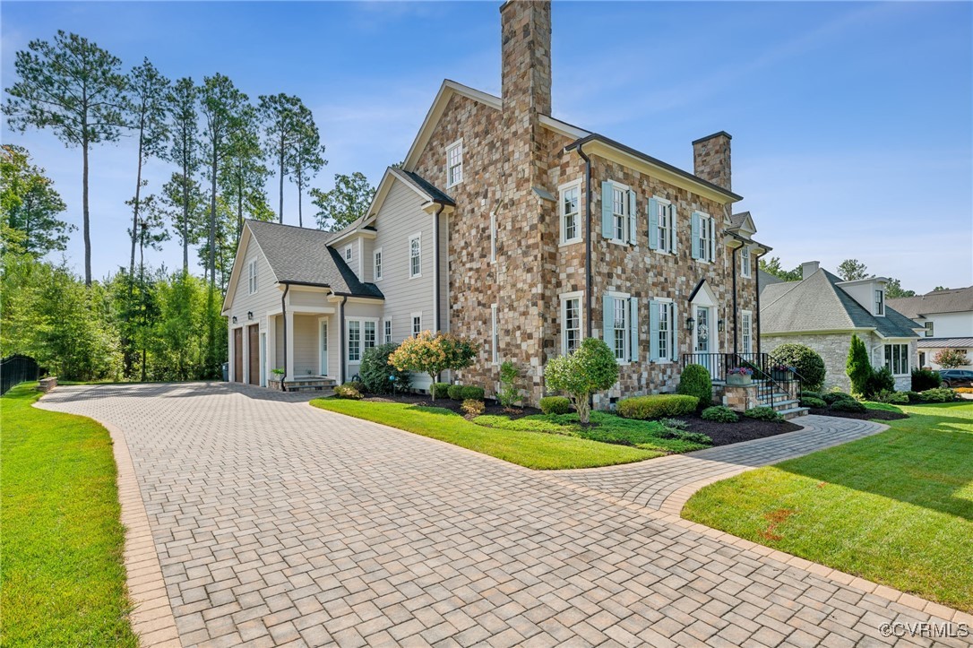
[[[270,269],[281,283],[328,286],[336,294],[382,298],[374,283],[364,283],[328,247],[334,233],[262,221],[247,221]]]

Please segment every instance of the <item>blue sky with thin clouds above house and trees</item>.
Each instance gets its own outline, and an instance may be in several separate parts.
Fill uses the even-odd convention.
[[[442,80],[500,93],[499,2],[26,3],[5,0],[14,54],[57,29],[170,78],[221,72],[254,101],[301,96],[335,173],[373,184],[412,143]],[[785,266],[857,258],[917,291],[973,283],[973,4],[556,2],[554,113],[692,170],[697,137],[733,134],[734,190]],[[2,131],[45,166],[81,223],[81,154]],[[127,259],[130,139],[91,155],[95,276]],[[152,162],[149,191],[171,168]],[[269,185],[276,206],[276,184]],[[287,186],[285,222],[297,222]],[[313,207],[305,200],[305,214]],[[80,232],[67,250],[83,265]],[[147,262],[177,268],[170,241]]]

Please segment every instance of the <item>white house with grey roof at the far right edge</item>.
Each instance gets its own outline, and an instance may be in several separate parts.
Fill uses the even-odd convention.
[[[888,300],[888,305],[923,327],[920,367],[941,369],[933,356],[941,349],[955,348],[965,351],[970,363],[959,369],[973,369],[973,286]]]

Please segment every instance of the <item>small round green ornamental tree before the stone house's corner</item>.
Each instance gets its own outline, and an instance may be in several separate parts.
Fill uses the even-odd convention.
[[[574,353],[549,362],[544,379],[549,388],[570,397],[581,422],[587,423],[592,415],[592,394],[609,389],[618,381],[618,362],[608,344],[588,338]]]

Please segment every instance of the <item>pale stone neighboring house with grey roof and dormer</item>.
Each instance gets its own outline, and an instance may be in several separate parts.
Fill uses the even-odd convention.
[[[848,347],[851,335],[857,334],[868,348],[872,365],[888,367],[896,389],[910,389],[911,373],[917,366],[919,327],[885,303],[888,280],[843,281],[816,261],[803,264],[801,270],[801,281],[765,282],[761,276],[764,348],[773,353],[784,342],[810,346],[824,359],[825,388],[847,391]]]

